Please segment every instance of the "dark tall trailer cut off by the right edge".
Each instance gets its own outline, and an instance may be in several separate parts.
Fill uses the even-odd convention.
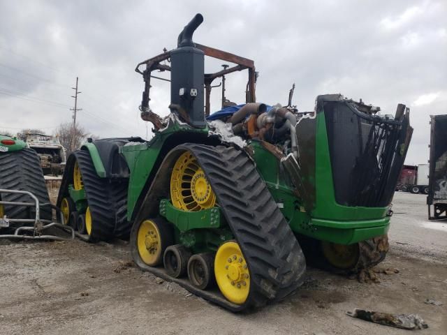
[[[428,218],[445,219],[447,218],[447,115],[432,115],[430,118]]]

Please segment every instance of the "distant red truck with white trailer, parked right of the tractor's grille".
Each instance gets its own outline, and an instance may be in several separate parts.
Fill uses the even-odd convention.
[[[428,194],[428,164],[404,165],[396,191]]]

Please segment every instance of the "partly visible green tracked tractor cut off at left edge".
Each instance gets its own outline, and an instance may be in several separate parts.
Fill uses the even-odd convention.
[[[0,190],[3,190],[0,191],[0,201],[7,202],[0,203],[1,233],[15,230],[24,225],[24,221],[34,218],[36,209],[22,205],[32,199],[22,191],[33,193],[40,204],[50,202],[36,151],[16,137],[0,135]],[[5,216],[9,220],[3,220]],[[40,218],[50,221],[51,208],[42,208]]]

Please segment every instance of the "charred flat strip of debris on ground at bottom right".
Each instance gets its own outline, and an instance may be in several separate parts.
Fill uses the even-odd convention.
[[[364,309],[354,309],[352,312],[346,312],[346,315],[351,318],[358,318],[361,320],[378,323],[379,325],[386,325],[390,327],[397,327],[402,329],[425,329],[428,325],[417,314],[390,314],[374,311],[365,311]]]

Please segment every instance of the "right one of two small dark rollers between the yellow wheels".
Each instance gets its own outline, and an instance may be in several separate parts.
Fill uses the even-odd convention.
[[[214,277],[214,254],[198,253],[188,261],[188,278],[191,284],[205,290],[216,282]]]

